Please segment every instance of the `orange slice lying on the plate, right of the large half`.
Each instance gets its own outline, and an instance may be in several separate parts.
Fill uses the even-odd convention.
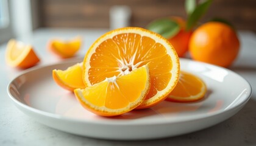
[[[172,102],[194,102],[204,97],[205,83],[196,75],[181,71],[180,79],[166,100]]]

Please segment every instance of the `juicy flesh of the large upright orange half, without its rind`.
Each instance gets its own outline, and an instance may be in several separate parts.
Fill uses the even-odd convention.
[[[144,55],[142,55],[144,54]],[[170,64],[166,64],[166,62]],[[162,91],[171,78],[171,57],[162,44],[135,33],[122,33],[102,42],[91,55],[88,78],[91,85],[105,78],[121,76],[124,71],[149,65],[151,88],[146,99]]]

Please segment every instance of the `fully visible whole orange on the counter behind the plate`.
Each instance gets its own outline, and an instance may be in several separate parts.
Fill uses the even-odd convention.
[[[238,55],[240,42],[235,30],[224,23],[208,22],[198,27],[190,38],[191,57],[197,61],[230,66]]]

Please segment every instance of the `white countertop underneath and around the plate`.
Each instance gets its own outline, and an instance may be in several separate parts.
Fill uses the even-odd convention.
[[[78,57],[84,57],[88,47],[107,30],[39,29],[33,36],[23,38],[34,45],[41,58],[38,66],[62,61],[46,50],[50,38],[70,38],[80,35],[84,47]],[[76,136],[35,122],[16,108],[8,94],[7,85],[21,70],[5,64],[6,44],[0,46],[0,145],[256,145],[256,35],[240,31],[241,51],[231,69],[244,77],[252,86],[249,102],[230,119],[205,130],[182,136],[151,141],[107,141]]]

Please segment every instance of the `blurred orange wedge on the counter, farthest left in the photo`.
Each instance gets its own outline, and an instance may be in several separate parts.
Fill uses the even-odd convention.
[[[40,61],[31,45],[14,39],[7,44],[5,60],[10,66],[23,69],[30,68]]]

